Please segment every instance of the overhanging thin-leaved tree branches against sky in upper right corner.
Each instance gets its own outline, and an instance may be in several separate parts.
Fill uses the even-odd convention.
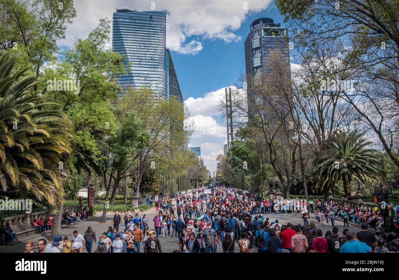
[[[364,122],[366,129],[377,135],[381,149],[399,167],[393,141],[398,134],[399,114],[397,3],[327,0],[309,5],[277,0],[276,5],[285,16],[295,49],[318,53],[319,60],[339,66],[322,79],[332,76],[356,81],[354,91],[341,91],[339,97],[358,114],[354,120]],[[326,47],[330,42],[334,42],[332,49]],[[306,57],[306,61],[313,63],[312,57]]]

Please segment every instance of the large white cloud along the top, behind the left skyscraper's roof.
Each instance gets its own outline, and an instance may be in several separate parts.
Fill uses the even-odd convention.
[[[220,39],[226,43],[241,40],[234,31],[239,29],[249,12],[266,9],[271,0],[247,1],[247,10],[243,9],[241,0],[75,0],[77,18],[67,27],[66,39],[58,43],[71,45],[75,36],[87,37],[100,18],[112,19],[116,8],[150,11],[152,2],[155,10],[168,12],[166,46],[178,53],[196,54],[201,50],[197,42],[202,39]]]

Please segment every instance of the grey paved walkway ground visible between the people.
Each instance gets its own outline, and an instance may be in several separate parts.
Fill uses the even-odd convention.
[[[173,203],[174,205],[176,205],[176,201],[173,199]],[[146,214],[148,217],[148,220],[150,222],[148,222],[149,228],[151,230],[151,224],[152,224],[152,219],[155,217],[155,207],[151,208],[149,210],[146,210],[144,212],[141,213],[141,217]],[[176,213],[176,212],[175,212]],[[97,241],[99,240],[99,237],[101,236],[101,234],[105,231],[108,230],[109,226],[113,226],[113,216],[115,213],[113,212],[108,212],[107,213],[107,223],[100,223],[101,221],[101,215],[102,212],[98,212],[97,215],[87,221],[81,221],[78,222],[77,224],[71,224],[71,225],[67,225],[66,227],[62,227],[61,228],[61,235],[62,237],[67,236],[69,240],[72,239],[73,237],[73,231],[77,230],[80,234],[83,235],[83,233],[85,232],[85,230],[87,229],[87,227],[91,227],[92,229],[94,229],[95,233],[96,233],[96,237],[97,237]],[[124,213],[120,213],[120,215],[123,217]],[[269,213],[269,214],[263,214],[263,216],[269,217],[269,221],[273,221],[278,219],[279,223],[282,225],[286,225],[288,222],[297,225],[297,224],[301,224],[303,225],[303,219],[302,219],[302,214],[298,214],[298,213],[287,213],[287,214],[282,214],[282,213]],[[316,219],[314,219],[314,214],[310,213],[310,218],[308,219],[309,223],[310,222],[314,222],[316,224],[316,227],[319,229],[322,229],[323,231],[323,236],[326,233],[326,231],[332,231],[332,226],[331,225],[325,225],[325,224],[321,224],[321,223],[317,223]],[[335,219],[335,224],[336,226],[339,227],[339,235],[342,235],[342,230],[344,229],[343,225],[344,222],[342,220],[339,219]],[[124,229],[124,224],[121,223],[119,226],[119,232],[122,234],[123,233],[123,229]],[[349,225],[349,230],[350,231],[354,231],[355,233],[360,231],[360,227],[356,226],[356,225]],[[170,231],[172,233],[172,229]],[[51,235],[51,231],[47,231],[47,233],[41,233],[41,234],[35,234],[35,235],[30,235],[28,237],[22,238],[14,243],[8,243],[6,245],[0,246],[0,253],[23,253],[25,251],[25,243],[27,241],[32,241],[35,244],[34,247],[34,251],[37,251],[37,241],[40,238],[45,238],[45,239],[49,239]],[[163,253],[172,253],[174,250],[178,250],[179,249],[179,241],[177,237],[165,237],[162,238],[162,236],[160,235],[159,237],[160,243],[161,243],[161,248],[162,248],[162,252]],[[94,252],[95,249],[97,248],[97,244],[93,243],[93,249],[92,251]],[[83,253],[87,253],[87,251],[83,250]],[[144,252],[144,244],[141,246],[140,248],[140,253]],[[217,253],[222,253],[222,247],[221,246],[217,246]],[[238,253],[239,252],[239,247],[237,242],[235,242],[235,252]],[[257,252],[257,248],[254,246],[253,247],[253,252]]]

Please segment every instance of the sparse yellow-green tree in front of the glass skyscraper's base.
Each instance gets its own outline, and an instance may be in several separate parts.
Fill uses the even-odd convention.
[[[172,159],[184,143],[187,143],[190,135],[190,129],[183,129],[188,110],[173,96],[164,99],[146,87],[129,88],[120,97],[117,106],[120,110],[135,110],[142,123],[143,134],[136,143],[137,153],[133,157],[131,174],[139,187],[142,176],[151,166],[166,168],[173,165]],[[139,188],[137,196],[138,192]]]

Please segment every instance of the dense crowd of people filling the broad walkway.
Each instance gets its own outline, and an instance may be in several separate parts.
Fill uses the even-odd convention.
[[[91,253],[93,243],[97,243],[94,253],[140,253],[141,250],[162,253],[161,236],[177,238],[175,253],[216,253],[217,246],[221,246],[224,253],[252,253],[254,248],[258,253],[399,252],[396,233],[376,236],[368,230],[381,222],[376,210],[355,209],[319,200],[310,201],[305,207],[301,200],[261,200],[258,196],[246,196],[241,190],[224,186],[214,188],[213,194],[193,189],[187,194],[176,194],[174,199],[175,203],[171,198],[156,201],[156,215],[152,219],[146,214],[141,215],[138,207],[133,211],[127,209],[123,217],[116,212],[113,226],[101,233],[98,240],[91,227],[83,235],[74,231],[71,240],[57,235],[46,245],[45,239],[40,239],[38,252],[80,253],[86,250]],[[273,212],[300,213],[303,225],[282,224],[278,219],[265,217]],[[310,213],[317,222],[308,222]],[[355,233],[346,228],[340,234],[334,219],[344,219],[344,227],[349,226],[348,219],[356,221],[361,230]],[[323,232],[318,228],[318,223],[329,222],[331,231]],[[123,231],[120,231],[123,225]],[[26,253],[32,253],[33,245],[26,243]]]

